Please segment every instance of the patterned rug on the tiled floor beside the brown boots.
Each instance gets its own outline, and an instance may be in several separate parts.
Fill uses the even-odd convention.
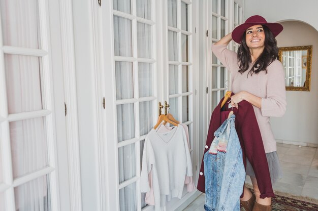
[[[317,201],[308,197],[275,191],[275,197],[272,198],[272,211],[318,211]]]

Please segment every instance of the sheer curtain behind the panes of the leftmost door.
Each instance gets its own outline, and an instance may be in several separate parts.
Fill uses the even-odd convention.
[[[41,48],[38,1],[1,0],[4,45]],[[41,59],[5,55],[9,114],[42,109]],[[10,122],[13,178],[41,170],[48,165],[45,118]],[[16,210],[50,210],[48,177],[37,178],[14,189]]]

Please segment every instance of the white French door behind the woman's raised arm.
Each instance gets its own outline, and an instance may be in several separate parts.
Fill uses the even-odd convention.
[[[211,45],[216,43],[220,38],[240,25],[243,21],[243,1],[240,0],[211,0],[206,3],[207,9],[207,51],[206,51],[206,128],[207,135],[208,125],[212,111],[224,97],[227,91],[231,91],[231,75],[226,67],[211,52]],[[237,52],[238,44],[231,41],[229,49]]]

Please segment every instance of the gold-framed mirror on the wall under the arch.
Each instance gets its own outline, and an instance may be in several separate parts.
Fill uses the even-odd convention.
[[[310,91],[312,46],[279,48],[287,91]]]

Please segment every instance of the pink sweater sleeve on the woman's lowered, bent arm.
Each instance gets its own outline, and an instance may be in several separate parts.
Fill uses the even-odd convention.
[[[268,66],[266,98],[262,98],[263,116],[283,116],[286,111],[285,74],[282,64],[275,60]]]

